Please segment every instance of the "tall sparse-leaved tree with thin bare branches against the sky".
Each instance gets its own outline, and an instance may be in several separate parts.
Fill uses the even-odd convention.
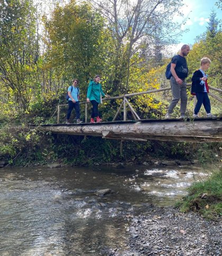
[[[113,71],[114,91],[128,90],[131,58],[140,52],[141,42],[154,44],[169,42],[177,34],[179,24],[172,22],[181,6],[180,1],[168,0],[90,0],[101,10],[108,22],[108,28],[115,40],[115,59]],[[180,31],[181,32],[181,31]],[[161,43],[160,43],[161,44]],[[159,45],[160,45],[159,44]],[[124,86],[125,82],[125,86]]]

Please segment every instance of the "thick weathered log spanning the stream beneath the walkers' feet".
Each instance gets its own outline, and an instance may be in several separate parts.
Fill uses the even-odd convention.
[[[222,117],[196,120],[141,120],[98,124],[42,125],[44,131],[109,139],[222,142]]]

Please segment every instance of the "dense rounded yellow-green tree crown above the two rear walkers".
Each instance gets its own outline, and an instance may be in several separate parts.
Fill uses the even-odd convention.
[[[103,17],[90,5],[75,1],[57,5],[52,19],[45,18],[44,24],[49,34],[45,69],[59,70],[63,81],[77,77],[82,84],[103,73],[112,42],[105,33]]]

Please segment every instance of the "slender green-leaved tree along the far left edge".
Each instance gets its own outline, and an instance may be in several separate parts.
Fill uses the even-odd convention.
[[[35,8],[30,0],[1,0],[0,81],[26,111],[36,80]]]

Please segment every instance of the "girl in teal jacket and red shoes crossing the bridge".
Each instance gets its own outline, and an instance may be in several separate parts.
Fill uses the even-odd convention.
[[[96,75],[94,77],[94,80],[91,80],[88,86],[87,90],[87,102],[91,102],[92,104],[92,113],[91,113],[91,119],[90,123],[95,123],[94,118],[96,117],[96,122],[100,123],[102,120],[99,117],[98,113],[98,105],[101,103],[101,97],[109,97],[109,95],[106,95],[102,88],[101,84],[99,83],[100,76]]]

